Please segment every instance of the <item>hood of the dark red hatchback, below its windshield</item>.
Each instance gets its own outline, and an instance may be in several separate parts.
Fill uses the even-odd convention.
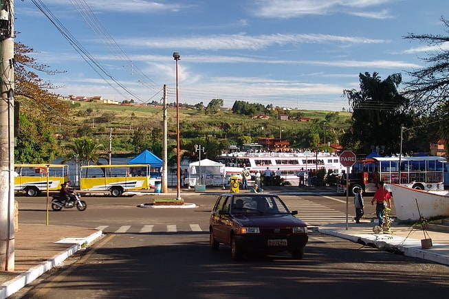
[[[234,218],[241,226],[276,228],[307,226],[291,214],[241,214]]]

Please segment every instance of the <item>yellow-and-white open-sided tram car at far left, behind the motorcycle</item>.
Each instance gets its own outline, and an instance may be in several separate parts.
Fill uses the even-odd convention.
[[[28,196],[39,195],[43,190],[61,189],[69,180],[69,166],[66,164],[14,164],[14,190]]]

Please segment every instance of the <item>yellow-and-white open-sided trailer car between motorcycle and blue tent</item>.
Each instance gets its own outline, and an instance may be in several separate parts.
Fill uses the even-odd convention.
[[[109,191],[120,197],[129,190],[149,189],[149,164],[81,166],[81,191]]]

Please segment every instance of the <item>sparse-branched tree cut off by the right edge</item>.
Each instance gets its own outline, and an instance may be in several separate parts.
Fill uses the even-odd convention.
[[[449,21],[442,16],[440,20],[449,33]],[[439,134],[449,148],[449,49],[443,47],[449,36],[412,33],[404,38],[427,43],[429,51],[426,58],[421,58],[428,66],[407,72],[413,79],[405,83],[403,94],[413,98],[411,104],[421,114],[435,113],[439,117]]]

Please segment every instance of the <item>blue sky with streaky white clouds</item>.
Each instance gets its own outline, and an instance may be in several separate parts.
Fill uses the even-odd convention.
[[[88,62],[37,8],[80,45]],[[447,0],[15,0],[16,41],[63,96],[176,101],[214,98],[298,109],[348,109],[343,89],[360,72],[390,74],[422,67],[426,45],[405,40],[442,34]],[[56,19],[55,19],[56,18]],[[448,46],[449,47],[449,46]],[[93,65],[94,67],[91,67]]]

